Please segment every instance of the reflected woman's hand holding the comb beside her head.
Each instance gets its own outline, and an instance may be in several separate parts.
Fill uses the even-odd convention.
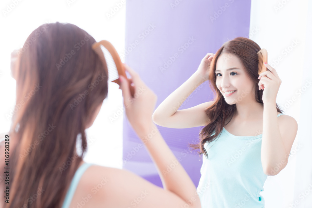
[[[266,68],[268,68],[268,70],[262,72],[258,77],[258,79],[260,79],[258,83],[259,89],[264,90],[262,100],[263,102],[272,101],[273,103],[276,103],[277,92],[280,88],[282,80],[271,65],[265,63],[263,64]]]

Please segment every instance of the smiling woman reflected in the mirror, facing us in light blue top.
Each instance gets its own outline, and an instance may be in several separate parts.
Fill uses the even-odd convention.
[[[264,207],[260,191],[267,176],[288,162],[298,125],[276,104],[281,84],[276,70],[264,63],[269,70],[258,75],[260,49],[244,37],[225,42],[152,115],[164,127],[204,126],[199,143],[190,144],[205,155],[197,187],[202,207]],[[213,101],[175,110],[206,80]]]

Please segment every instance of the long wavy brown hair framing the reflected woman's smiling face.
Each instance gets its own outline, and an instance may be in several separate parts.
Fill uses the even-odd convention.
[[[233,118],[234,113],[236,112],[236,104],[229,105],[224,100],[223,95],[220,90],[217,88],[215,76],[216,64],[218,57],[222,53],[228,53],[233,56],[237,56],[241,61],[241,64],[245,68],[247,75],[251,80],[254,81],[256,87],[256,102],[263,105],[262,94],[263,90],[258,88],[258,55],[257,52],[260,51],[261,47],[254,41],[246,37],[236,37],[231,41],[225,42],[219,50],[215,53],[211,64],[209,66],[209,85],[213,89],[214,93],[214,103],[205,109],[210,123],[207,126],[203,127],[199,133],[199,143],[189,144],[189,146],[194,149],[199,149],[199,154],[202,153],[208,158],[204,144],[214,141],[217,136],[222,132],[223,127],[226,125],[228,119],[229,122]],[[279,106],[276,104],[277,112],[282,113]],[[215,133],[215,134],[213,134]],[[212,135],[213,134],[213,135]]]

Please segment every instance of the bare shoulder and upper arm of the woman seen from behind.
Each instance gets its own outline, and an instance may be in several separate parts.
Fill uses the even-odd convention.
[[[82,196],[92,198],[88,207],[98,207],[100,204],[100,207],[178,208],[185,205],[171,191],[156,186],[133,172],[112,167],[90,166],[82,176],[81,186],[78,188],[84,189]]]

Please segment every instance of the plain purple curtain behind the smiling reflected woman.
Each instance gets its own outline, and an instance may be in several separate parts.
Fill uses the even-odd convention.
[[[202,58],[224,42],[249,37],[251,1],[129,0],[126,2],[125,63],[157,94],[157,106],[182,85]],[[186,109],[213,99],[209,83],[199,86],[181,105]],[[201,127],[158,126],[180,163],[198,185],[202,159],[190,151]],[[156,166],[124,114],[123,168],[162,187]]]

